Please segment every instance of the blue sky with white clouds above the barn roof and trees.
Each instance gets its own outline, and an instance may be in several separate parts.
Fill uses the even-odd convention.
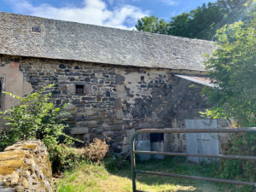
[[[132,29],[137,19],[165,20],[212,0],[0,0],[0,11]]]

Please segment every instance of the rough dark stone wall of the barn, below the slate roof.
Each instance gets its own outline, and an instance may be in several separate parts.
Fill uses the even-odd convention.
[[[127,151],[137,129],[184,127],[184,119],[200,118],[207,108],[202,85],[180,79],[169,69],[119,67],[99,63],[0,56],[0,67],[20,64],[32,89],[54,83],[53,102],[70,103],[69,133],[90,142],[113,138],[112,147]],[[0,70],[1,72],[1,70]],[[177,73],[177,72],[175,72]],[[180,72],[182,73],[182,72]],[[76,87],[83,92],[76,92]],[[183,151],[183,135],[166,150]],[[168,147],[169,146],[169,147]]]

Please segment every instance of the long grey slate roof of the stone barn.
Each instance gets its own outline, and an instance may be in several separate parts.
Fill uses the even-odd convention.
[[[32,32],[39,27],[41,32]],[[205,40],[0,12],[0,54],[205,71]]]

